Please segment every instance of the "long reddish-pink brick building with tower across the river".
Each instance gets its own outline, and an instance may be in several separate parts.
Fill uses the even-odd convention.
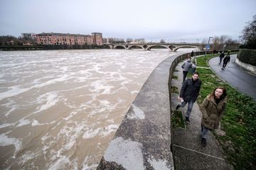
[[[36,34],[36,41],[41,45],[102,45],[102,33],[92,35],[40,33]]]

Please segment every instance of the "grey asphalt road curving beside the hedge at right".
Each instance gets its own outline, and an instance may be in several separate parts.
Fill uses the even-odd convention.
[[[221,69],[223,62],[219,64],[219,57],[210,59],[208,64],[215,74],[218,74],[221,79],[228,82],[230,86],[256,100],[256,76],[235,64],[236,57],[237,55],[230,55],[230,62],[224,70]]]

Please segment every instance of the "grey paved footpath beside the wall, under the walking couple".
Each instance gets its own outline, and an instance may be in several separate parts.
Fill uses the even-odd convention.
[[[173,79],[171,85],[178,87],[178,91],[181,89],[182,84],[182,69],[181,62],[177,65],[174,75],[178,79]],[[171,94],[171,109],[174,110],[176,103],[178,103],[178,94]],[[179,108],[178,111],[182,111],[185,118],[187,106]],[[191,113],[191,123],[186,125],[185,129],[174,129],[174,164],[175,169],[233,169],[223,156],[222,149],[215,139],[212,132],[208,132],[208,139],[206,147],[201,145],[201,111],[197,103],[194,103]]]

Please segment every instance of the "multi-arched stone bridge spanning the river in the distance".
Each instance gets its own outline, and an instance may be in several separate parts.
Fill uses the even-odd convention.
[[[198,50],[203,50],[205,44],[199,43],[122,43],[122,44],[108,44],[111,49],[127,49],[131,50],[132,48],[141,48],[143,50],[151,50],[153,47],[164,47],[171,51],[176,51],[179,48],[198,48]]]

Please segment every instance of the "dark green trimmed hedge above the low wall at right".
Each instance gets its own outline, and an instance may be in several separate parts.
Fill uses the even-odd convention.
[[[238,59],[241,62],[256,66],[256,50],[240,49]]]

